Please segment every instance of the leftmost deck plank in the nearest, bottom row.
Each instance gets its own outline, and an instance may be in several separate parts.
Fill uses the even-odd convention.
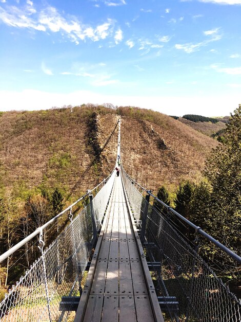
[[[101,322],[103,295],[90,295],[83,322]]]

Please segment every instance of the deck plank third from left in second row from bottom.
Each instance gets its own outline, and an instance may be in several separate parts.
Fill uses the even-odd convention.
[[[133,294],[131,266],[129,260],[119,261],[119,294]]]

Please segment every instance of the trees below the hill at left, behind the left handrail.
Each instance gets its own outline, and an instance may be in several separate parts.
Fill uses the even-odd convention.
[[[43,226],[64,208],[64,195],[59,188],[38,187],[34,191],[25,191],[19,198],[14,192],[1,191],[0,194],[0,253],[5,253],[13,245],[29,236],[36,228]],[[57,221],[52,229],[45,232],[45,243],[49,245],[61,231],[65,222]],[[39,257],[35,240],[30,240],[23,249],[19,249],[0,264],[0,301],[5,288]],[[24,256],[23,256],[24,254]],[[20,259],[19,259],[20,258]],[[18,260],[19,259],[19,260]]]

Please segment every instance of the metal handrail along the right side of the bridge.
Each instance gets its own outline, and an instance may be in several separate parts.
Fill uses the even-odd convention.
[[[194,225],[191,221],[189,221],[188,219],[186,219],[185,217],[183,217],[182,214],[178,213],[177,211],[175,211],[174,209],[172,209],[170,206],[166,205],[162,200],[159,200],[154,194],[151,193],[150,190],[145,189],[144,187],[142,187],[141,185],[139,185],[134,179],[132,179],[126,173],[126,171],[124,170],[123,167],[122,167],[122,169],[123,169],[124,173],[129,178],[130,181],[132,181],[133,183],[135,183],[140,189],[146,191],[147,194],[149,194],[150,196],[152,196],[154,198],[154,200],[156,200],[157,202],[159,202],[160,204],[162,204],[165,208],[167,208],[168,211],[171,211],[172,213],[175,214],[175,216],[177,216],[178,218],[182,219],[190,227],[194,228],[195,231],[196,231],[196,234],[200,234],[203,237],[207,238],[213,244],[215,244],[218,248],[220,248],[222,251],[224,251],[226,254],[228,254],[230,257],[232,257],[234,260],[236,260],[238,263],[241,263],[241,257],[240,256],[238,256],[236,253],[234,253],[233,251],[231,251],[231,249],[229,249],[228,247],[224,246],[222,243],[220,243],[219,241],[217,241],[216,239],[214,239],[212,236],[210,236],[209,234],[207,234],[207,232],[205,232],[202,228],[200,228],[199,226]]]

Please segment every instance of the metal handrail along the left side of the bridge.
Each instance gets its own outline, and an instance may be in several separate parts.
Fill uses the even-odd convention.
[[[113,173],[113,171],[112,171]],[[111,174],[112,174],[111,173]],[[10,255],[12,255],[14,252],[17,251],[17,249],[21,248],[23,245],[25,245],[28,241],[30,241],[31,239],[33,239],[35,236],[37,236],[38,234],[43,234],[43,230],[45,228],[47,228],[49,225],[51,225],[53,222],[55,222],[59,217],[63,216],[63,214],[65,214],[67,211],[71,210],[72,207],[74,207],[77,203],[79,203],[81,200],[85,199],[87,195],[89,195],[92,191],[94,191],[96,188],[98,188],[100,185],[102,185],[105,181],[109,180],[111,174],[108,175],[108,177],[106,177],[101,183],[99,183],[96,187],[94,187],[92,190],[88,190],[86,194],[84,194],[83,196],[81,196],[78,200],[76,200],[72,205],[70,205],[69,207],[67,207],[65,210],[63,210],[62,212],[59,212],[54,218],[50,219],[47,223],[45,223],[43,226],[38,227],[36,230],[34,230],[32,232],[32,234],[30,234],[29,236],[27,236],[26,238],[24,238],[22,241],[20,241],[19,243],[17,243],[16,245],[14,245],[13,247],[11,247],[10,249],[8,249],[7,252],[5,252],[4,254],[2,254],[0,256],[0,263],[2,263],[6,258],[8,258]]]

